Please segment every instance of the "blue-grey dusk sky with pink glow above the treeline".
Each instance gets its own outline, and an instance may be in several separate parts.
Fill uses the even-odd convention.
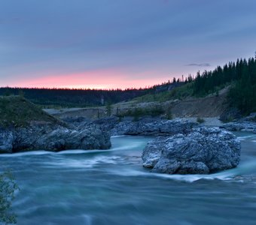
[[[0,86],[144,88],[255,51],[254,0],[0,0]]]

